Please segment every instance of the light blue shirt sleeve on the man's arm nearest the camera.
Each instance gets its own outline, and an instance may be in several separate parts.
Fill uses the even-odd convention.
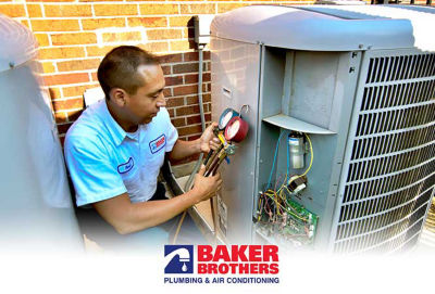
[[[103,146],[86,137],[67,137],[65,161],[73,180],[77,206],[108,200],[127,192]]]

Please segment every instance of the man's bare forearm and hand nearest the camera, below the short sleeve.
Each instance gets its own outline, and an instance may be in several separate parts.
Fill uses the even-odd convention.
[[[222,180],[217,174],[203,177],[202,167],[195,179],[194,189],[171,200],[132,203],[127,193],[94,203],[96,210],[121,234],[140,231],[178,215],[188,207],[210,199],[221,189]]]

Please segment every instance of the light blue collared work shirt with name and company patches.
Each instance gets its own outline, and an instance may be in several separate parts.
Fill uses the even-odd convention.
[[[89,106],[71,126],[64,145],[77,206],[125,192],[133,203],[151,199],[164,155],[177,138],[164,107],[129,133],[113,119],[105,100]]]

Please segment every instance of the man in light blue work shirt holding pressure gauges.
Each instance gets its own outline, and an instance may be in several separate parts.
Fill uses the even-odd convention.
[[[213,123],[195,141],[177,139],[165,106],[156,56],[129,46],[110,51],[98,68],[105,101],[88,107],[66,133],[65,158],[77,206],[91,205],[119,234],[165,223],[210,199],[220,175],[196,176],[192,190],[166,200],[157,177],[165,153],[177,161],[215,149]],[[152,201],[156,200],[156,201]]]

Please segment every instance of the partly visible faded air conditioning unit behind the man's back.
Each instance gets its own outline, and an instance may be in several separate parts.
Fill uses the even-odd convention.
[[[0,251],[82,253],[37,41],[0,14]]]

